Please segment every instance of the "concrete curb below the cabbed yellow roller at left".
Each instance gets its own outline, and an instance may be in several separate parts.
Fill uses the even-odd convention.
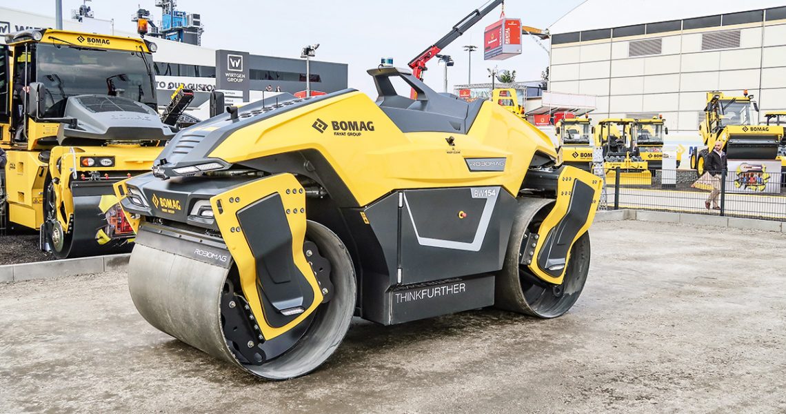
[[[4,264],[0,266],[0,283],[101,273],[125,267],[128,264],[129,257],[129,253],[124,253],[97,257],[79,257],[61,261]]]

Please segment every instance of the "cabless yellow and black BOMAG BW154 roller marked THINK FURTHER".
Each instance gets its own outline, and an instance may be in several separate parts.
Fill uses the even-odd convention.
[[[368,72],[376,102],[350,89],[230,107],[116,183],[145,320],[289,379],[318,368],[352,316],[571,308],[601,179],[556,165],[548,137],[499,105],[436,93],[408,69]]]

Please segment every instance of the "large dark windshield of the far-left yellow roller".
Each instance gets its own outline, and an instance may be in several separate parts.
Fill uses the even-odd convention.
[[[146,62],[145,62],[146,60]],[[36,79],[47,89],[46,109],[59,112],[68,97],[114,94],[156,105],[150,54],[123,50],[37,45]],[[51,95],[51,96],[49,96]],[[51,111],[50,111],[51,112]],[[61,116],[50,113],[48,116]]]

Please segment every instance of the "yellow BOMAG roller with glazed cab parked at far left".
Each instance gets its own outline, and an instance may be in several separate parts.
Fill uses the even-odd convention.
[[[156,112],[155,46],[52,29],[0,46],[0,148],[9,224],[58,258],[130,251],[112,184],[149,171],[174,131]]]

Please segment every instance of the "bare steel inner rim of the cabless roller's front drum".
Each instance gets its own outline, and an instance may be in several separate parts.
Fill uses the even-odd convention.
[[[357,281],[347,247],[328,227],[310,220],[306,238],[330,262],[333,297],[320,305],[308,330],[292,349],[262,365],[245,366],[265,379],[292,379],[317,369],[341,344],[354,315]]]

